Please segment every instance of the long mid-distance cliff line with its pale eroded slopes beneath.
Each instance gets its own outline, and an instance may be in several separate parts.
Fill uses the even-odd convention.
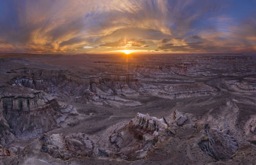
[[[20,68],[12,70],[10,73],[21,74],[12,80],[13,86],[44,90],[51,95],[63,96],[72,102],[91,102],[101,105],[103,105],[102,102],[105,102],[109,106],[138,106],[140,102],[127,97],[138,97],[140,93],[175,99],[204,97],[215,95],[218,92],[204,83],[159,84],[155,86],[156,88],[151,88],[148,84],[141,84],[134,74],[102,73],[97,77],[79,77],[65,70],[34,68]]]

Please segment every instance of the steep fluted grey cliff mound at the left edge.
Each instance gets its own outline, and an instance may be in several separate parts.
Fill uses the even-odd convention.
[[[56,127],[61,117],[56,100],[45,102],[40,98],[1,98],[3,116],[20,138],[32,138]],[[1,105],[1,104],[0,104]]]

